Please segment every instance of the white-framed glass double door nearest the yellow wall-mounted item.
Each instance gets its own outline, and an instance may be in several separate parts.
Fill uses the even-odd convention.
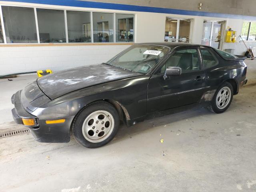
[[[204,20],[201,44],[221,49],[224,23]]]

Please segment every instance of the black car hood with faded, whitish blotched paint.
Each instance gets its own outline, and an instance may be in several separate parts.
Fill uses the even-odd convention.
[[[96,64],[54,72],[38,78],[37,83],[44,94],[55,99],[82,88],[140,75],[107,64]]]

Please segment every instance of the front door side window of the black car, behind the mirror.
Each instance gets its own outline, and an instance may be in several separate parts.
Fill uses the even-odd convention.
[[[164,66],[162,66],[160,73],[164,73],[168,67],[180,67],[182,72],[199,70],[199,63],[200,60],[196,49],[182,49],[168,58]]]

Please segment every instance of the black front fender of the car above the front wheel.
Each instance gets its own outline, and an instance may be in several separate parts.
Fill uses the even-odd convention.
[[[97,100],[114,100],[130,119],[146,115],[147,84],[150,75],[127,78],[77,90],[51,100],[31,112],[39,119],[75,116],[84,106]]]

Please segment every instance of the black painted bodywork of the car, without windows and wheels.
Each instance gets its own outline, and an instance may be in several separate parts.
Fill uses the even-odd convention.
[[[169,46],[169,55],[176,50],[192,47],[198,50],[200,47],[208,48],[214,53],[208,46],[164,42],[154,44]],[[98,100],[119,106],[127,126],[199,103],[208,106],[223,82],[233,82],[234,95],[238,93],[239,86],[246,83],[246,64],[242,60],[224,60],[216,53],[215,56],[218,65],[199,70],[202,77],[200,81],[196,79],[196,71],[164,80],[158,69],[165,64],[166,58],[160,60],[147,74],[107,64],[49,74],[37,82],[31,82],[12,96],[14,120],[22,124],[20,119],[23,116],[36,118],[39,124],[30,130],[39,142],[69,142],[70,127],[76,114]],[[201,58],[200,61],[203,64]],[[56,125],[45,123],[47,119],[58,118],[65,118],[66,121]]]

